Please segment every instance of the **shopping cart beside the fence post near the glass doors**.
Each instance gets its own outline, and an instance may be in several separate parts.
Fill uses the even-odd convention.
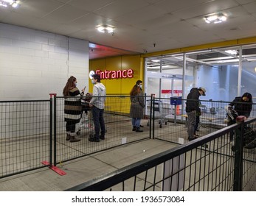
[[[151,99],[147,100],[147,102],[151,103]],[[154,117],[158,118],[158,123],[159,123],[159,127],[162,128],[162,125],[165,124],[167,125],[167,119],[165,118],[165,115],[163,113],[163,104],[161,100],[153,100],[152,101],[152,107],[153,107],[153,113],[154,113]],[[148,122],[148,126],[149,126],[149,122]]]

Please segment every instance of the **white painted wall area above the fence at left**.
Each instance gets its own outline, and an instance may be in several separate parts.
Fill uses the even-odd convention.
[[[88,41],[0,23],[0,101],[63,96],[70,76],[89,88],[88,74]]]

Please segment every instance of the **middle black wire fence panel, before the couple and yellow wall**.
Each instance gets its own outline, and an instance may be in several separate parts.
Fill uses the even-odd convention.
[[[83,104],[83,103],[82,103]],[[106,127],[105,140],[100,143],[89,142],[88,138],[94,133],[91,110],[83,111],[80,121],[81,141],[71,143],[66,141],[66,128],[64,119],[64,98],[56,97],[56,144],[54,165],[83,157],[88,154],[100,152],[125,143],[141,141],[150,138],[150,128],[145,127],[144,132],[132,131],[130,113],[130,96],[107,96],[105,101],[104,120]]]

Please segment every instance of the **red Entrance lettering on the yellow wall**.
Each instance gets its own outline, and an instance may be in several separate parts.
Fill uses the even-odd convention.
[[[96,70],[95,73],[100,74],[100,79],[120,79],[134,77],[134,70],[132,70],[131,68],[118,71]]]

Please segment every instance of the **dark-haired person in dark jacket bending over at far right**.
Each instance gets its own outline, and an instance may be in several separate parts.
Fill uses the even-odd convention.
[[[252,94],[251,93],[243,93],[243,96],[237,96],[235,99],[229,103],[228,110],[235,110],[238,116],[245,116],[249,118],[252,111]],[[233,120],[229,120],[228,125],[234,124],[235,118]]]

